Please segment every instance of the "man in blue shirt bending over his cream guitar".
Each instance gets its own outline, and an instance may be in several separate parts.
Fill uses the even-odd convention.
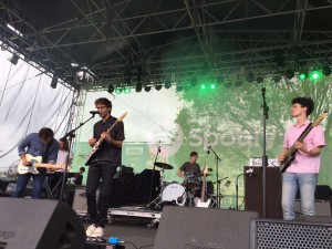
[[[39,133],[31,133],[22,139],[18,149],[24,166],[29,166],[30,163],[25,157],[27,154],[30,154],[33,157],[42,156],[41,163],[54,164],[58,157],[59,145],[58,141],[54,139],[53,131],[44,127],[40,129]],[[31,177],[33,180],[32,198],[40,198],[46,177],[45,170],[40,174],[28,173],[19,175],[15,191],[13,194],[14,197],[22,196]]]

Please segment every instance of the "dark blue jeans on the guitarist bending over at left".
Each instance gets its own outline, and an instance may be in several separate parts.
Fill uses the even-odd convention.
[[[22,197],[22,194],[25,190],[28,181],[31,176],[32,176],[32,180],[33,180],[32,198],[34,198],[34,199],[40,198],[46,175],[45,174],[31,174],[31,173],[18,176],[18,185],[17,185],[15,191],[13,194],[13,197]]]

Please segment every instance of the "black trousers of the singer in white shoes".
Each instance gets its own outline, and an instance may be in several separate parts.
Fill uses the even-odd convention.
[[[105,227],[111,203],[111,188],[116,167],[110,165],[91,165],[89,167],[85,195],[87,214],[91,222],[96,227]],[[96,189],[100,187],[100,197],[96,201]]]

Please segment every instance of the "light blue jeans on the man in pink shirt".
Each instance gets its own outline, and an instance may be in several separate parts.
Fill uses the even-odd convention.
[[[295,219],[294,203],[300,188],[301,209],[304,216],[314,216],[314,190],[318,181],[315,173],[283,173],[282,200],[283,219]]]

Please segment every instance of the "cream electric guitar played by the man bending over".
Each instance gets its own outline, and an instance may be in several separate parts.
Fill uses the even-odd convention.
[[[29,165],[28,166],[23,165],[22,159],[20,159],[19,165],[18,165],[18,173],[20,175],[28,174],[28,173],[39,174],[38,168],[65,169],[65,165],[41,163],[42,162],[41,156],[33,157],[30,154],[27,154],[25,157],[29,160]]]

